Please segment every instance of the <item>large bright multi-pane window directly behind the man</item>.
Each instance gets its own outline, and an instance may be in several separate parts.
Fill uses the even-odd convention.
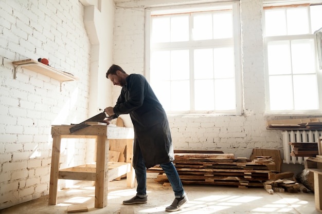
[[[241,114],[238,10],[147,10],[146,76],[168,113]]]

